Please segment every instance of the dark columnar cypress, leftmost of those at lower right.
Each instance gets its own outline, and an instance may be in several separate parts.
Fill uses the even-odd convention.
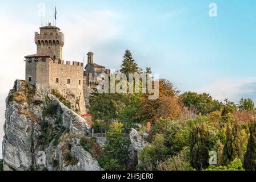
[[[190,164],[198,171],[209,166],[209,130],[205,122],[197,123],[191,129]]]

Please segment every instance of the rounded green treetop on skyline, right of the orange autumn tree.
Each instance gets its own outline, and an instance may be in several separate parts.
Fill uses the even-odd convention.
[[[185,92],[180,96],[180,99],[186,107],[202,114],[211,113],[212,111],[219,110],[221,107],[219,101],[213,100],[207,93]]]

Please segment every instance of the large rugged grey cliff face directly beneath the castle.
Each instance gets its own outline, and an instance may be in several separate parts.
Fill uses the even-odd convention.
[[[74,127],[90,126],[42,85],[15,81],[5,118],[4,170],[101,170],[80,146],[81,135],[73,133]]]

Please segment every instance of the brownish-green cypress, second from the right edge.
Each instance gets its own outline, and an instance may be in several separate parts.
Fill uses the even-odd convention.
[[[234,122],[232,118],[230,118],[226,126],[226,140],[221,159],[222,166],[227,166],[235,158],[243,159],[242,144],[241,126],[239,126],[238,122]]]

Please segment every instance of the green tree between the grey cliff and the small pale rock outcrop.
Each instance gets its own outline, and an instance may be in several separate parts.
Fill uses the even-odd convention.
[[[121,166],[119,170],[125,169],[129,162],[130,140],[125,138],[122,132],[122,123],[114,122],[106,134],[106,143],[103,148],[105,156],[101,160],[103,168],[109,166]]]

